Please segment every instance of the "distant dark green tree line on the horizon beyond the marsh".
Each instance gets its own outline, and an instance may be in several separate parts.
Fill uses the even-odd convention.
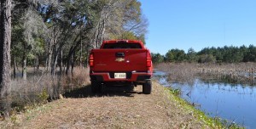
[[[152,53],[154,64],[162,62],[196,62],[196,63],[240,63],[256,62],[256,47],[243,45],[241,47],[224,46],[223,48],[203,48],[195,52],[189,48],[185,53],[181,49],[171,49],[165,55]]]

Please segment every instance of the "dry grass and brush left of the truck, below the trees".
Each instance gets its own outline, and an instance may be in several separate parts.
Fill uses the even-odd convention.
[[[44,104],[50,100],[57,99],[61,93],[83,87],[90,84],[88,69],[74,69],[73,76],[48,76],[40,74],[29,76],[27,80],[15,79],[11,81],[11,87],[7,99],[1,103],[11,104],[11,114],[26,110],[27,107]]]

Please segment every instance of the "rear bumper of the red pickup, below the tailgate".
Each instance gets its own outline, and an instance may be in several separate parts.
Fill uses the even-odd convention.
[[[90,74],[91,81],[136,81],[142,82],[151,79],[152,73],[147,72],[131,72],[127,74],[125,79],[115,79],[109,72],[97,72]]]

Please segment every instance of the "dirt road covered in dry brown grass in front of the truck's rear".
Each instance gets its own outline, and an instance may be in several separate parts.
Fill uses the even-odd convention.
[[[208,128],[194,118],[158,83],[153,93],[106,89],[91,94],[90,87],[16,116],[13,128]]]

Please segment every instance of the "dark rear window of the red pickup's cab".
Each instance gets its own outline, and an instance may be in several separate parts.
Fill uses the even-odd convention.
[[[142,48],[140,43],[106,43],[103,49],[127,49],[127,48]]]

